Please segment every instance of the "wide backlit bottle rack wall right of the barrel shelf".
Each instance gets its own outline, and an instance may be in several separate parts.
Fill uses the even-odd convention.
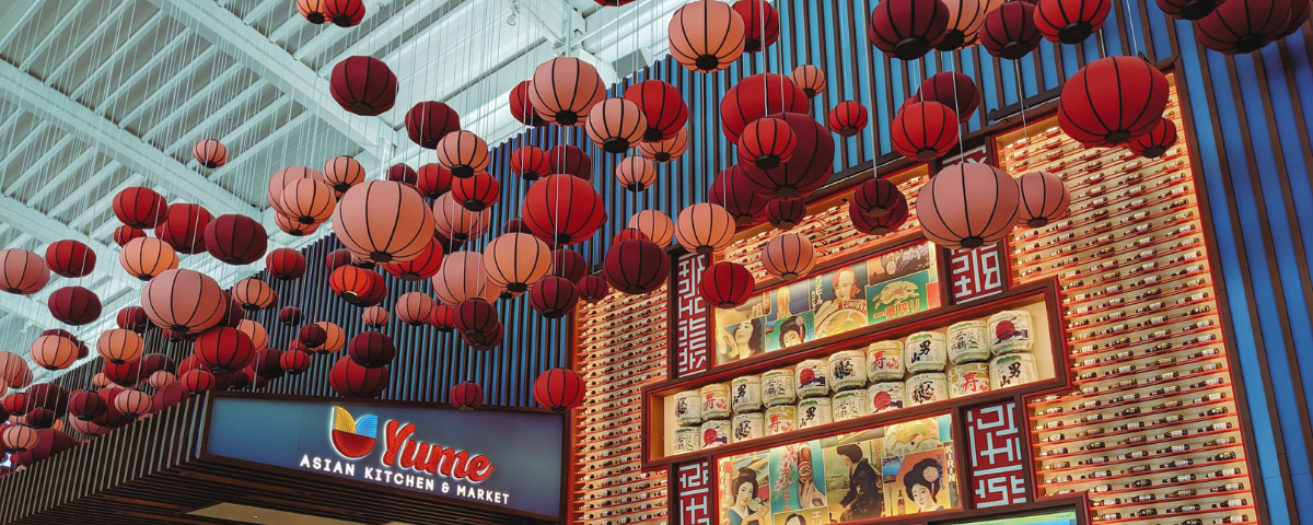
[[[1167,116],[1184,136],[1175,89]],[[1099,524],[1258,522],[1184,138],[1144,159],[1048,118],[998,146],[1012,176],[1071,193],[1067,217],[1008,244],[1014,282],[1058,278],[1074,383],[1027,403],[1037,494],[1086,491]]]

